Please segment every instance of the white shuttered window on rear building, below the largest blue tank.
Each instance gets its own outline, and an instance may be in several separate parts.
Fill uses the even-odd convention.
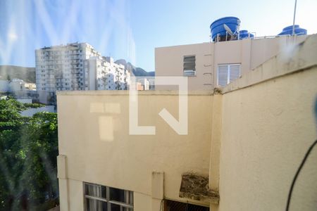
[[[230,84],[240,77],[240,64],[218,65],[218,85]]]

